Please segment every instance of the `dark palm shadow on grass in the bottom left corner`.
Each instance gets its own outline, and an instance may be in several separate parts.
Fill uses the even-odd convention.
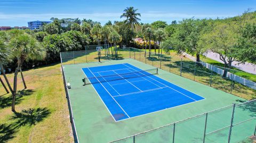
[[[14,133],[16,130],[12,125],[0,124],[0,142],[7,142],[8,140],[14,138]]]

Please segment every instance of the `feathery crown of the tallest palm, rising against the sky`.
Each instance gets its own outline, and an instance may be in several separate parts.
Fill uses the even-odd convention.
[[[140,13],[136,13],[138,9],[134,9],[134,7],[126,7],[124,13],[120,16],[120,18],[126,18],[125,23],[129,24],[132,30],[135,28],[135,25],[139,24],[138,21],[140,19]]]

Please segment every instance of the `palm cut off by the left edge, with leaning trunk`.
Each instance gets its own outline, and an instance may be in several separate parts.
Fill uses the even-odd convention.
[[[7,85],[9,86],[9,89],[11,90],[12,92],[12,87],[9,83],[9,80],[7,79],[6,75],[5,75],[5,71],[4,71],[4,67],[3,67],[3,63],[6,62],[7,60],[7,57],[9,57],[10,55],[10,51],[9,49],[7,49],[5,43],[4,43],[4,40],[0,39],[0,69],[1,69],[1,72],[2,74],[4,75],[4,78],[5,78],[5,81],[7,83]],[[7,94],[9,93],[9,90],[6,88],[3,80],[1,79],[0,77],[0,82],[2,83],[5,91],[7,92]]]

